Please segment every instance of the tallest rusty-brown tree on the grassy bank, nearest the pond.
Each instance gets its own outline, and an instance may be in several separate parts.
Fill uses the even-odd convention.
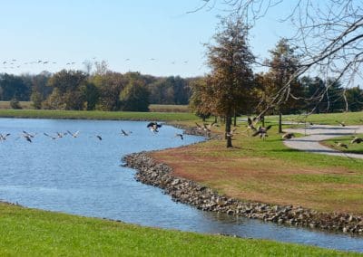
[[[245,107],[253,84],[250,64],[254,56],[247,45],[247,31],[240,20],[230,16],[221,20],[220,31],[213,36],[215,44],[207,44],[211,76],[206,79],[208,90],[203,100],[211,113],[226,119],[227,148],[232,147],[231,118]]]

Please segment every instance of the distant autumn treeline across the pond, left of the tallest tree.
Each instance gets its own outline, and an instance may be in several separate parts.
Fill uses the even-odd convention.
[[[35,109],[145,111],[149,104],[188,104],[193,80],[113,71],[92,75],[73,70],[37,75],[2,73],[0,100],[31,100]],[[12,106],[16,108],[16,104]]]

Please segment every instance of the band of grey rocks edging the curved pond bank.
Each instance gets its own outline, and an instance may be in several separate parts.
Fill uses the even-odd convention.
[[[143,184],[158,186],[176,202],[198,209],[321,230],[363,234],[363,216],[319,213],[292,205],[267,205],[244,202],[218,195],[211,188],[182,177],[172,176],[172,167],[156,162],[147,152],[123,157],[126,167],[137,170],[135,178]]]

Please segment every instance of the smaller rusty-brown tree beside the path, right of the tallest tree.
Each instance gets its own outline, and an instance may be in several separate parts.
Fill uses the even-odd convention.
[[[266,93],[269,94],[273,100],[274,96],[280,91],[286,84],[289,83],[289,94],[286,95],[286,99],[281,101],[277,105],[276,110],[279,113],[279,133],[282,133],[282,112],[289,111],[297,106],[297,101],[291,98],[294,96],[302,97],[302,89],[299,85],[297,78],[291,80],[295,72],[299,67],[299,56],[295,54],[294,48],[289,46],[287,39],[280,39],[275,49],[270,50],[271,59],[266,61],[270,70],[265,74],[267,77]],[[269,102],[272,100],[268,100]],[[295,105],[295,106],[294,106]]]

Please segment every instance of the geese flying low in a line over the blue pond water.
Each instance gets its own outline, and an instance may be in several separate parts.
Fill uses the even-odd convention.
[[[146,128],[150,129],[150,131],[152,131],[152,133],[156,134],[159,132],[159,129],[162,128],[162,124],[159,124],[157,122],[149,122],[147,124]],[[43,135],[47,138],[51,138],[51,139],[55,140],[58,138],[64,138],[67,135],[69,135],[72,138],[78,138],[79,133],[80,133],[80,131],[71,132],[71,131],[67,130],[66,132],[55,132],[54,135],[50,135],[50,134],[44,132]],[[121,136],[128,137],[131,134],[132,134],[132,131],[125,131],[125,130],[121,129],[121,132],[120,132]],[[5,133],[5,134],[0,133],[0,142],[5,141],[10,135],[11,135],[10,133]],[[29,143],[32,143],[36,135],[37,135],[37,133],[32,134],[32,133],[28,133],[25,130],[23,130],[22,133],[20,134],[20,137],[18,137],[16,139],[25,138],[26,141],[28,141]],[[100,141],[103,140],[101,135],[95,135],[90,138],[93,138],[93,137],[98,138]],[[183,135],[180,133],[176,133],[175,138],[181,138],[182,140],[184,139]]]

